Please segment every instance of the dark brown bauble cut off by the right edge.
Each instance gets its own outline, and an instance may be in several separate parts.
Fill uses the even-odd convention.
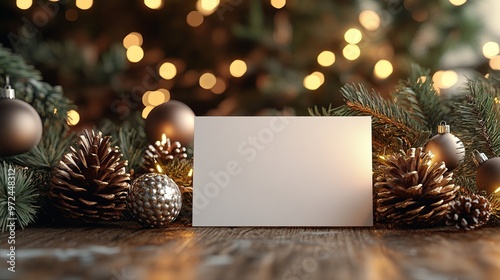
[[[477,166],[476,188],[488,194],[500,193],[500,158],[488,157],[476,150],[472,152]]]

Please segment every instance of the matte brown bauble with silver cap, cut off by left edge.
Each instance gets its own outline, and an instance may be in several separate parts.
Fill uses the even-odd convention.
[[[15,99],[6,78],[0,93],[0,157],[28,152],[42,139],[42,120],[28,103]]]

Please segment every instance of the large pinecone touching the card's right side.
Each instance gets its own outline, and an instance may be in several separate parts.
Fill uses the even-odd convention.
[[[444,219],[460,187],[451,184],[444,162],[432,162],[422,147],[381,161],[375,183],[375,212],[382,222],[432,226]]]

